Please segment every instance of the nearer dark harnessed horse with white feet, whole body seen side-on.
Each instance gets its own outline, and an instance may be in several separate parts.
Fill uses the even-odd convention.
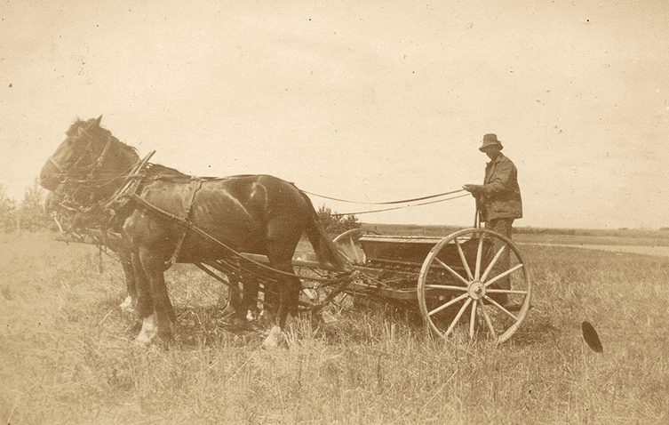
[[[231,248],[266,255],[273,269],[284,272],[277,277],[277,322],[264,345],[280,343],[287,317],[298,312],[300,283],[294,277],[292,256],[302,234],[307,234],[323,265],[345,268],[337,248],[317,224],[309,198],[293,184],[269,175],[199,180],[157,164],[148,164],[135,195],[124,196],[120,189],[132,178],[129,173],[139,164],[139,156],[100,127],[101,118],[77,120],[70,126],[68,137],[44,164],[40,184],[59,196],[92,205],[93,210],[106,205],[99,221],[122,234],[118,253],[129,295],[143,321],[137,341],[172,337],[176,316],[163,272],[173,261],[225,259]],[[115,203],[115,198],[123,202]],[[182,220],[169,220],[170,214]]]

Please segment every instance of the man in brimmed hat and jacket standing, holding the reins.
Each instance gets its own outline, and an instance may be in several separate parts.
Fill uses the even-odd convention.
[[[511,239],[514,220],[522,218],[521,188],[518,186],[518,170],[509,158],[502,155],[502,148],[497,135],[484,135],[479,150],[490,158],[490,163],[485,166],[483,184],[466,184],[462,188],[476,198],[476,207],[479,210],[481,221],[485,222],[485,228]],[[498,239],[495,240],[500,245],[495,246],[495,250],[498,251],[502,244]],[[509,251],[507,249],[499,258],[490,276],[494,277],[508,269]],[[500,279],[499,287],[511,289],[509,278]],[[506,296],[495,298],[501,304],[506,304]]]

